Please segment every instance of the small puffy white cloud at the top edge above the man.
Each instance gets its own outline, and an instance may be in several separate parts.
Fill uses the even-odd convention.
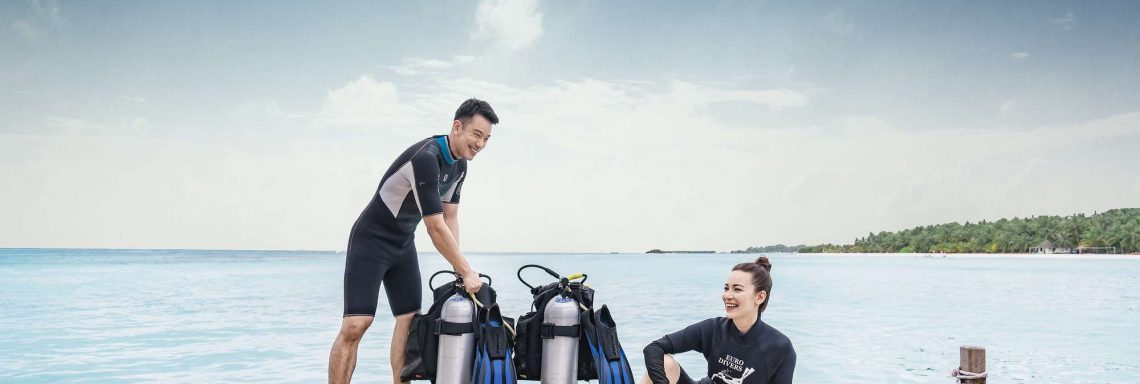
[[[543,13],[537,0],[482,0],[475,10],[472,38],[490,40],[508,50],[535,46],[543,35]]]

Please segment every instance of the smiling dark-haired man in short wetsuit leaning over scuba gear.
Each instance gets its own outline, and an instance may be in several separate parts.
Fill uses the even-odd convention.
[[[376,316],[383,281],[396,317],[392,332],[392,383],[400,382],[404,346],[412,316],[420,311],[421,277],[415,230],[421,218],[443,259],[463,278],[467,292],[482,283],[459,252],[459,189],[467,161],[487,146],[498,116],[487,101],[467,99],[455,111],[448,134],[416,142],[389,166],[372,202],[349,235],[344,262],[344,318],[328,353],[328,382],[348,383],[356,369],[360,337]]]

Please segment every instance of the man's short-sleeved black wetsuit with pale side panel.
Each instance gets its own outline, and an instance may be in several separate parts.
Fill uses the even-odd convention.
[[[408,147],[384,172],[349,235],[344,316],[376,316],[381,281],[392,314],[420,310],[415,231],[423,216],[459,203],[467,161],[451,157],[447,136]]]

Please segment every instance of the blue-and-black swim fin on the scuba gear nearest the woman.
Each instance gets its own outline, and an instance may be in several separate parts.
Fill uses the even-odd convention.
[[[584,311],[581,317],[583,333],[589,343],[589,353],[594,358],[600,384],[634,384],[634,374],[626,359],[626,351],[618,342],[618,329],[610,316],[610,309],[602,305],[596,312]]]

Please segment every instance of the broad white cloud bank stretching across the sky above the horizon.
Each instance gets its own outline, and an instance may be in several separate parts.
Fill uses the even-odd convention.
[[[870,115],[767,126],[764,116],[809,105],[809,95],[593,79],[398,88],[366,75],[331,90],[314,116],[363,128],[351,136],[317,130],[225,146],[2,136],[0,170],[26,182],[0,189],[0,211],[15,218],[0,231],[25,243],[0,246],[341,250],[389,162],[446,132],[467,97],[490,101],[502,124],[470,165],[465,251],[845,242],[944,221],[1091,212],[1140,194],[1134,172],[1118,165],[1134,154],[1058,157],[1135,141],[1140,113],[1035,130],[914,132]],[[706,111],[716,103],[756,108],[730,122]],[[83,193],[68,193],[76,183]],[[64,236],[68,228],[52,224],[63,220],[93,229]],[[422,250],[432,248],[427,239],[418,236]]]

